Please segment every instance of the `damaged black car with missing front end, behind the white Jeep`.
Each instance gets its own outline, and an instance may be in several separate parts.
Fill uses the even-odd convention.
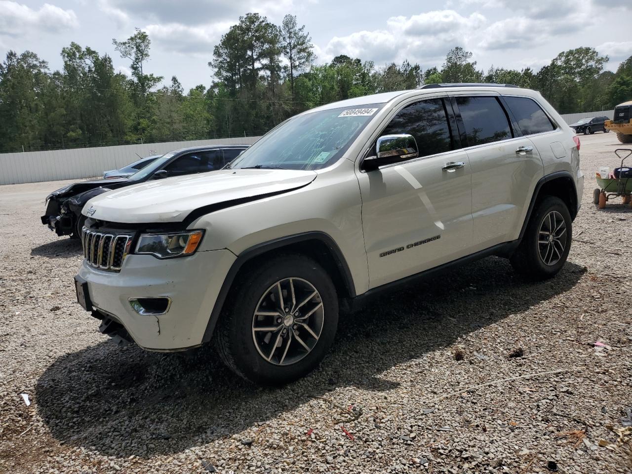
[[[40,217],[58,236],[70,235],[78,238],[86,217],[82,216],[83,206],[91,198],[107,191],[137,185],[150,179],[183,176],[185,174],[206,173],[222,169],[233,161],[249,145],[209,145],[174,150],[162,155],[143,167],[129,178],[95,179],[82,181],[52,191],[46,197],[46,214]]]

